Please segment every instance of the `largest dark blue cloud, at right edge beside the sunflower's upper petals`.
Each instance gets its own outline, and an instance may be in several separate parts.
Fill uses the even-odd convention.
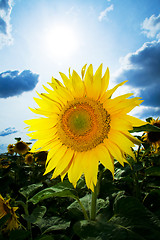
[[[144,100],[143,106],[152,107],[154,113],[159,111],[160,41],[146,42],[136,52],[122,58],[115,79],[117,82],[127,79],[127,84],[137,89]]]

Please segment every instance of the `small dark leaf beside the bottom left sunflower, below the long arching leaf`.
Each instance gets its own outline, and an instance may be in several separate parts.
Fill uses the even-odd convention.
[[[33,210],[31,215],[29,215],[29,216],[22,215],[22,216],[25,220],[27,220],[27,222],[36,224],[37,222],[39,222],[43,218],[45,213],[46,213],[46,207],[45,206],[40,206],[40,207],[36,207]]]

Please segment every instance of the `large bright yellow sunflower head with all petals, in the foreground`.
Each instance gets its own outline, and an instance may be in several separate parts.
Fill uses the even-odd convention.
[[[87,70],[85,65],[82,77],[74,70],[72,75],[69,70],[69,78],[60,75],[64,85],[52,78],[48,83],[52,90],[44,86],[48,93],[34,98],[39,108],[31,110],[44,117],[25,121],[34,131],[28,135],[38,140],[31,151],[49,151],[44,174],[54,169],[52,178],[60,175],[63,180],[68,173],[74,187],[84,174],[87,187],[94,191],[99,163],[114,175],[114,159],[124,165],[124,154],[134,158],[131,147],[140,141],[128,130],[146,123],[127,113],[142,101],[128,99],[131,93],[111,99],[126,81],[107,90],[109,69],[102,76],[102,64],[95,74],[92,65]]]

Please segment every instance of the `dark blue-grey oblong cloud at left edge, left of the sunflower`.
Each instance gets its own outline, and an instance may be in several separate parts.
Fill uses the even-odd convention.
[[[38,74],[30,70],[2,72],[0,74],[0,98],[17,96],[33,90],[38,83],[38,77]]]

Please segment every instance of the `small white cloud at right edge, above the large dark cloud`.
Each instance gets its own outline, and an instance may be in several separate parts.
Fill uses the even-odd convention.
[[[160,38],[160,14],[156,17],[154,14],[150,18],[145,18],[142,25],[142,32],[148,38]]]

